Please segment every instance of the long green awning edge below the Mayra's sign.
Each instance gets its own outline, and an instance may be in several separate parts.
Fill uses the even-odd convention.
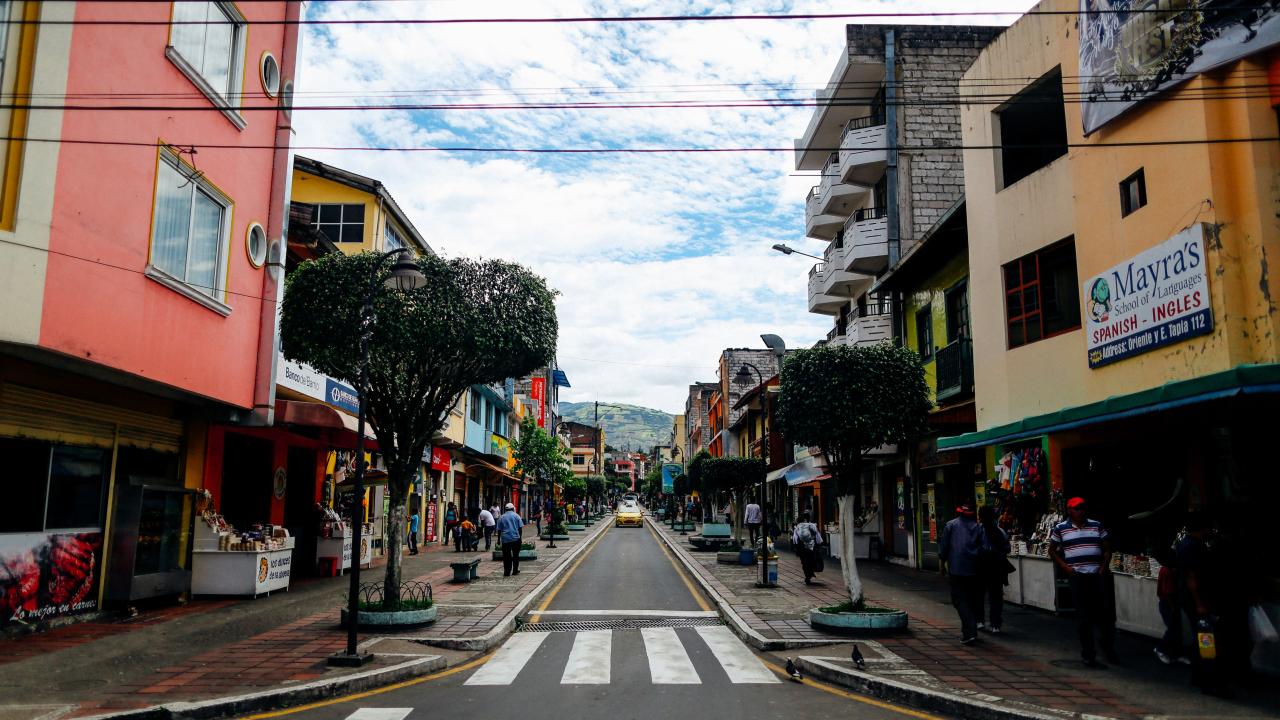
[[[1142,392],[1117,395],[1057,413],[1024,418],[1007,425],[938,438],[938,450],[986,447],[1222,397],[1271,392],[1280,393],[1280,364],[1240,365],[1211,375],[1165,383]]]

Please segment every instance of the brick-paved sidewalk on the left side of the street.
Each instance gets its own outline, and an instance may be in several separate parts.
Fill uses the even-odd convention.
[[[568,541],[557,541],[554,550],[538,541],[538,560],[521,562],[521,574],[511,578],[502,577],[502,562],[490,560],[488,552],[424,546],[417,556],[404,557],[403,578],[431,584],[440,619],[413,632],[361,630],[361,647],[383,653],[361,669],[333,669],[325,662],[346,647],[346,630],[338,625],[349,583],[346,575],[296,580],[289,592],[257,600],[195,600],[132,619],[0,639],[0,720],[84,717],[315,680],[340,682],[370,667],[402,673],[398,666],[412,656],[448,655],[429,642],[486,650],[500,642],[502,624],[539,584],[558,574],[567,555],[603,530],[604,523],[596,523],[571,533]],[[479,579],[449,583],[449,562],[472,557],[481,557]],[[381,577],[379,561],[362,571],[361,580]]]

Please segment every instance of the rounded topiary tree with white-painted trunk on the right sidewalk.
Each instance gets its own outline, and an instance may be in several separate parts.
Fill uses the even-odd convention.
[[[780,429],[790,442],[822,450],[836,480],[840,566],[850,602],[861,607],[852,529],[861,514],[863,454],[924,432],[933,406],[924,366],[913,350],[887,342],[822,346],[788,354],[781,380]]]

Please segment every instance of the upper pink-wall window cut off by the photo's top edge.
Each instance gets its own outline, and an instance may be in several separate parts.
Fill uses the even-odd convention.
[[[173,4],[170,59],[219,106],[239,96],[244,18],[232,3]]]

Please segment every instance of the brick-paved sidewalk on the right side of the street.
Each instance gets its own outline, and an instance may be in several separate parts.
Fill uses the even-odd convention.
[[[808,611],[847,600],[840,561],[827,560],[822,584],[805,585],[799,559],[778,552],[778,587],[756,588],[759,566],[717,564],[714,552],[696,552],[687,537],[654,527],[680,548],[704,587],[719,594],[745,628],[771,644],[787,646],[780,655],[827,659],[845,670],[851,684],[859,675],[923,692],[942,692],[992,703],[1027,716],[1103,715],[1108,717],[1275,717],[1280,691],[1262,680],[1258,689],[1224,701],[1202,694],[1189,683],[1189,669],[1165,666],[1151,648],[1155,641],[1119,633],[1120,667],[1094,670],[1079,661],[1075,623],[1034,609],[1005,605],[1004,634],[982,634],[972,647],[960,644],[960,621],[951,607],[946,579],[899,565],[859,564],[867,600],[906,610],[910,626],[899,635],[859,641],[868,660],[858,673],[850,661],[849,638],[813,630]],[[722,607],[722,614],[724,609]],[[732,624],[732,623],[731,623]],[[831,643],[827,647],[809,647]],[[837,644],[838,643],[838,644]],[[1016,714],[1016,712],[1015,712]]]

